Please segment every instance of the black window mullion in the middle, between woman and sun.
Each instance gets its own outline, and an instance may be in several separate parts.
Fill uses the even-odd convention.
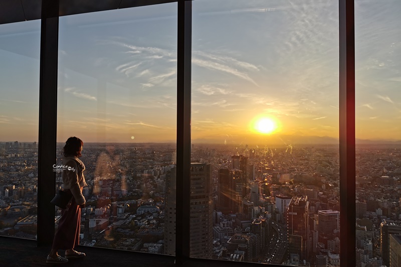
[[[178,1],[176,263],[189,258],[192,1]]]

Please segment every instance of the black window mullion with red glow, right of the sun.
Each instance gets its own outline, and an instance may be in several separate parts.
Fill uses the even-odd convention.
[[[354,0],[339,0],[340,264],[355,267],[355,22]]]

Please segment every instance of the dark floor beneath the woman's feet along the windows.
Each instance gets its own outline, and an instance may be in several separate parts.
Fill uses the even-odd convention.
[[[65,264],[47,264],[46,256],[50,246],[37,246],[36,240],[0,236],[0,266],[144,266],[144,267],[168,267],[178,266],[174,264],[175,257],[130,252],[107,248],[79,246],[75,248],[86,253],[85,258],[70,259]],[[60,251],[61,252],[61,251]],[[60,253],[59,252],[59,253]],[[60,253],[61,254],[61,253]],[[181,266],[184,267],[220,267],[220,266],[261,266],[257,263],[244,263],[221,260],[190,259]],[[262,265],[263,266],[263,265]],[[265,265],[266,266],[266,265]],[[269,265],[274,266],[274,265]]]

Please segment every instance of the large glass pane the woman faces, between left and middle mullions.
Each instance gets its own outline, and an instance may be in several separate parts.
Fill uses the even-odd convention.
[[[176,4],[60,18],[58,152],[85,143],[81,244],[175,253],[176,27]]]

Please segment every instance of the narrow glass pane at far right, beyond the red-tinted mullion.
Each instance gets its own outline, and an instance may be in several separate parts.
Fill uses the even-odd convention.
[[[399,1],[355,1],[356,261],[362,265],[401,264],[395,235],[401,233],[400,12]]]

